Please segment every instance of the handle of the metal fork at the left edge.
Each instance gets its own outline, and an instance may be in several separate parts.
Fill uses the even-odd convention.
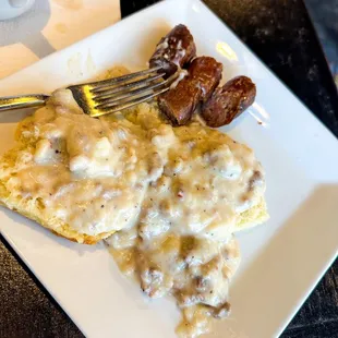
[[[0,112],[5,110],[34,108],[45,106],[49,96],[44,94],[28,94],[0,97]]]

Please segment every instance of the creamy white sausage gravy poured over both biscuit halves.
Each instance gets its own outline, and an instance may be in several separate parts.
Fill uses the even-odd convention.
[[[148,297],[177,299],[181,337],[228,313],[240,261],[232,232],[265,190],[250,148],[198,122],[172,128],[155,104],[93,119],[69,90],[28,119],[21,137],[37,142],[17,170],[22,193],[79,232],[117,230],[107,243],[120,268]]]

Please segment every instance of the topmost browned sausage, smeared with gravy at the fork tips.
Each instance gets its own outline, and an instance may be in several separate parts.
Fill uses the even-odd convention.
[[[149,60],[150,68],[161,67],[166,76],[174,74],[196,56],[194,38],[184,25],[177,25],[160,39]]]

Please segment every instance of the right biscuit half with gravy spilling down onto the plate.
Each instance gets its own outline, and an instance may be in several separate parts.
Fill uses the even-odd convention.
[[[157,113],[154,106],[135,119],[152,121],[164,170],[148,186],[138,225],[107,242],[147,297],[174,297],[183,314],[178,334],[196,337],[230,311],[228,288],[240,262],[233,232],[267,219],[264,170],[229,136],[195,121],[172,128]]]

